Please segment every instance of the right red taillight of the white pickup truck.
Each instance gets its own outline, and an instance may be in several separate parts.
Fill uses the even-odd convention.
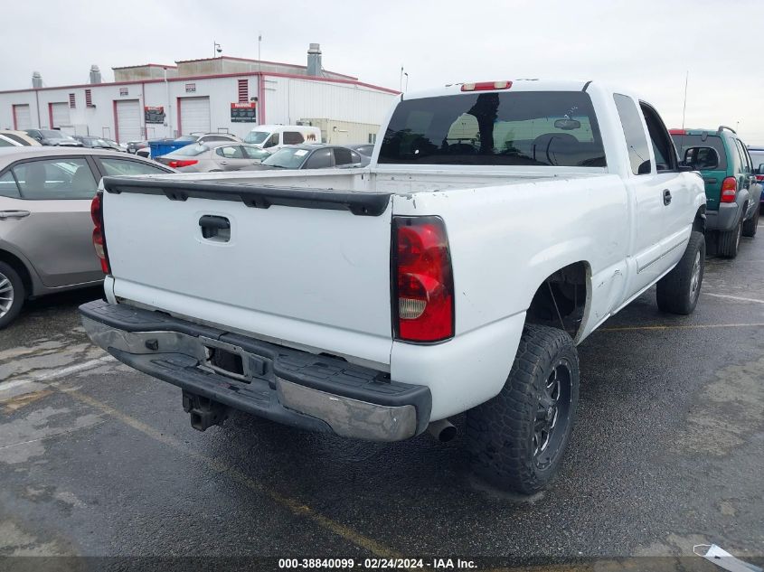
[[[393,217],[392,305],[397,339],[440,342],[454,336],[454,279],[439,217]]]

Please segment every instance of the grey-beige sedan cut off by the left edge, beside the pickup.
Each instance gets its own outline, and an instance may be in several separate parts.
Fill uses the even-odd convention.
[[[107,150],[0,148],[0,329],[28,298],[103,280],[90,220],[102,176],[171,172]]]

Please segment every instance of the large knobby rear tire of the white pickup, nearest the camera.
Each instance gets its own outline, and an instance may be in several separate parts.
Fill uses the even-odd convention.
[[[546,487],[571,436],[579,377],[571,336],[549,326],[526,324],[504,388],[494,399],[467,411],[467,446],[475,473],[498,488],[521,494]],[[548,392],[552,378],[557,380],[557,399]],[[544,424],[545,443],[540,429]]]

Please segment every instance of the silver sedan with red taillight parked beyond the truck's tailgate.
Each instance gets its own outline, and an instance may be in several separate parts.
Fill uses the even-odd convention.
[[[243,167],[260,164],[270,156],[268,151],[255,145],[203,143],[185,145],[167,155],[156,157],[184,173],[210,173],[212,171],[239,171]]]

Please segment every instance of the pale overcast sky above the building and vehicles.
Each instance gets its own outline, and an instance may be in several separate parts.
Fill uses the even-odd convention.
[[[736,127],[764,145],[764,0],[350,2],[36,0],[6,6],[0,89],[84,83],[112,67],[224,55],[304,64],[398,89],[513,78],[605,80],[653,103],[668,127]]]

